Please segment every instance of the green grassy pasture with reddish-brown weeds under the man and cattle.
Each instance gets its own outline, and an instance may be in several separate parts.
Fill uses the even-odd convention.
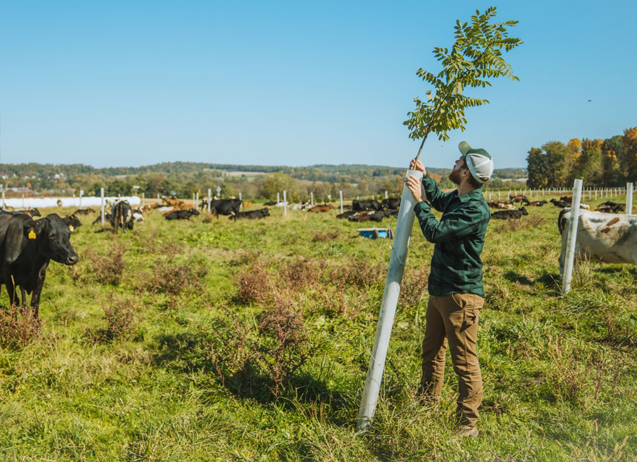
[[[80,217],[41,329],[1,317],[0,461],[637,461],[637,268],[578,264],[563,297],[559,209],[529,211],[490,223],[480,437],[463,440],[449,358],[441,406],[415,396],[433,252],[417,223],[374,424],[355,434],[391,240],[335,211],[149,211],[118,235]]]

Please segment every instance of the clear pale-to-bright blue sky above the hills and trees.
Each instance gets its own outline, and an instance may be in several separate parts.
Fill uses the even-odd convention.
[[[0,163],[201,161],[407,166],[402,122],[456,19],[498,8],[520,82],[465,92],[467,129],[433,134],[525,167],[547,141],[637,125],[637,2],[0,0]]]

